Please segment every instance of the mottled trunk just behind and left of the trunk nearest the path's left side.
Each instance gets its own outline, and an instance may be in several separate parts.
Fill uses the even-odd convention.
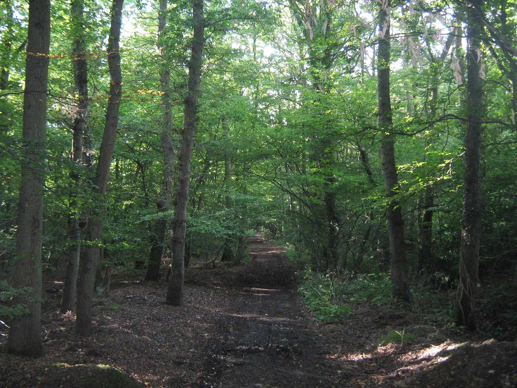
[[[163,183],[161,199],[158,201],[158,213],[169,210],[172,197],[172,183],[174,176],[174,148],[172,146],[172,105],[171,105],[171,86],[170,86],[170,70],[165,53],[165,36],[163,30],[167,25],[167,3],[168,0],[160,0],[160,11],[158,13],[158,41],[156,46],[160,50],[162,57],[162,70],[160,74],[163,106],[163,130],[161,134],[161,143],[163,150]],[[165,232],[167,230],[167,222],[165,219],[158,219],[154,225],[154,231],[151,233],[151,251],[147,264],[146,280],[160,280],[160,263],[163,255],[163,244],[165,242]]]

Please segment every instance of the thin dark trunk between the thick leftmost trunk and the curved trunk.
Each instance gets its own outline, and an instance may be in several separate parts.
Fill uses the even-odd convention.
[[[72,64],[75,87],[78,91],[78,109],[75,112],[73,122],[73,154],[72,159],[79,169],[83,161],[83,136],[86,125],[86,115],[88,113],[88,64],[86,53],[83,46],[84,42],[84,19],[83,19],[83,0],[73,0],[71,4],[72,28],[74,28],[75,39],[72,49]],[[81,186],[81,175],[78,171],[72,171],[70,177],[74,181],[75,187],[72,188],[72,202],[70,203],[71,213],[68,216],[68,236],[70,246],[68,251],[68,262],[65,274],[65,287],[61,300],[60,311],[72,311],[75,308],[75,290],[77,285],[77,275],[79,270],[79,258],[81,253],[81,229],[79,227],[78,202],[75,199]]]

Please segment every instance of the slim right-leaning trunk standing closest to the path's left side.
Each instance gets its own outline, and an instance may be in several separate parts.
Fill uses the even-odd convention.
[[[201,81],[205,20],[203,0],[192,0],[193,29],[192,51],[189,63],[188,93],[185,98],[183,136],[178,156],[178,182],[174,200],[174,235],[172,276],[167,291],[166,303],[173,306],[183,304],[183,281],[185,277],[185,234],[187,231],[187,203],[190,186],[190,160],[194,147],[197,99]]]

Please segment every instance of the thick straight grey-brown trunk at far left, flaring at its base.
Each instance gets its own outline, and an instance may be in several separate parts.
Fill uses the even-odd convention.
[[[49,79],[50,0],[29,1],[25,94],[23,96],[22,179],[18,203],[18,231],[12,286],[28,287],[26,314],[11,321],[6,351],[24,356],[43,355],[41,342],[41,241],[43,221],[44,153]],[[43,54],[43,55],[41,55]]]

